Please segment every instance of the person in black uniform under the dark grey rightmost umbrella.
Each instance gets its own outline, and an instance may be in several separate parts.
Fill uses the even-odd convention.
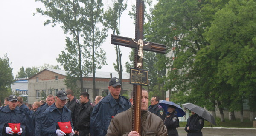
[[[193,111],[191,111],[191,114],[185,127],[185,131],[188,133],[187,136],[203,136],[201,129],[204,127],[204,119]]]

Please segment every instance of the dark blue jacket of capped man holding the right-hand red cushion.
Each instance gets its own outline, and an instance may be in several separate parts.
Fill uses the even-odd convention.
[[[56,136],[58,128],[57,122],[71,122],[72,129],[74,126],[71,119],[71,111],[64,106],[62,113],[56,108],[55,103],[47,109],[44,109],[41,116],[41,134],[40,136]]]

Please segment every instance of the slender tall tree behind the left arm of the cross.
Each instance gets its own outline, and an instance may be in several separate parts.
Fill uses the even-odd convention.
[[[113,34],[120,35],[120,18],[122,15],[122,12],[126,10],[127,8],[127,0],[124,2],[124,0],[117,0],[113,1],[113,7],[108,7],[108,11],[106,11],[103,14],[104,23],[103,25],[111,29],[113,31]],[[120,50],[119,45],[115,46],[116,48],[116,63],[113,63],[115,70],[118,72],[119,79],[122,82],[122,52]],[[123,91],[121,89],[121,95],[123,94]]]

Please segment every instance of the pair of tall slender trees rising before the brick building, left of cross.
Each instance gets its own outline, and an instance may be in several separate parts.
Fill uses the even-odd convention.
[[[45,10],[37,8],[37,13],[50,19],[44,25],[57,24],[66,37],[66,51],[62,51],[57,61],[68,71],[67,75],[79,77],[80,90],[83,90],[83,77],[93,73],[93,92],[95,91],[95,70],[106,64],[105,51],[100,47],[107,36],[105,28],[99,29],[102,20],[101,0],[36,0],[44,3]],[[69,79],[69,78],[67,78]],[[74,79],[74,78],[73,78]],[[75,80],[73,81],[75,84]],[[75,78],[77,79],[77,78]]]

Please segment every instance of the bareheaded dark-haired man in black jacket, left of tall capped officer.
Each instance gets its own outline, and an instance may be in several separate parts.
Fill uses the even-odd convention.
[[[79,136],[89,136],[90,116],[94,105],[90,102],[89,94],[87,92],[82,92],[80,94],[80,102],[81,105],[76,118],[75,134]]]

